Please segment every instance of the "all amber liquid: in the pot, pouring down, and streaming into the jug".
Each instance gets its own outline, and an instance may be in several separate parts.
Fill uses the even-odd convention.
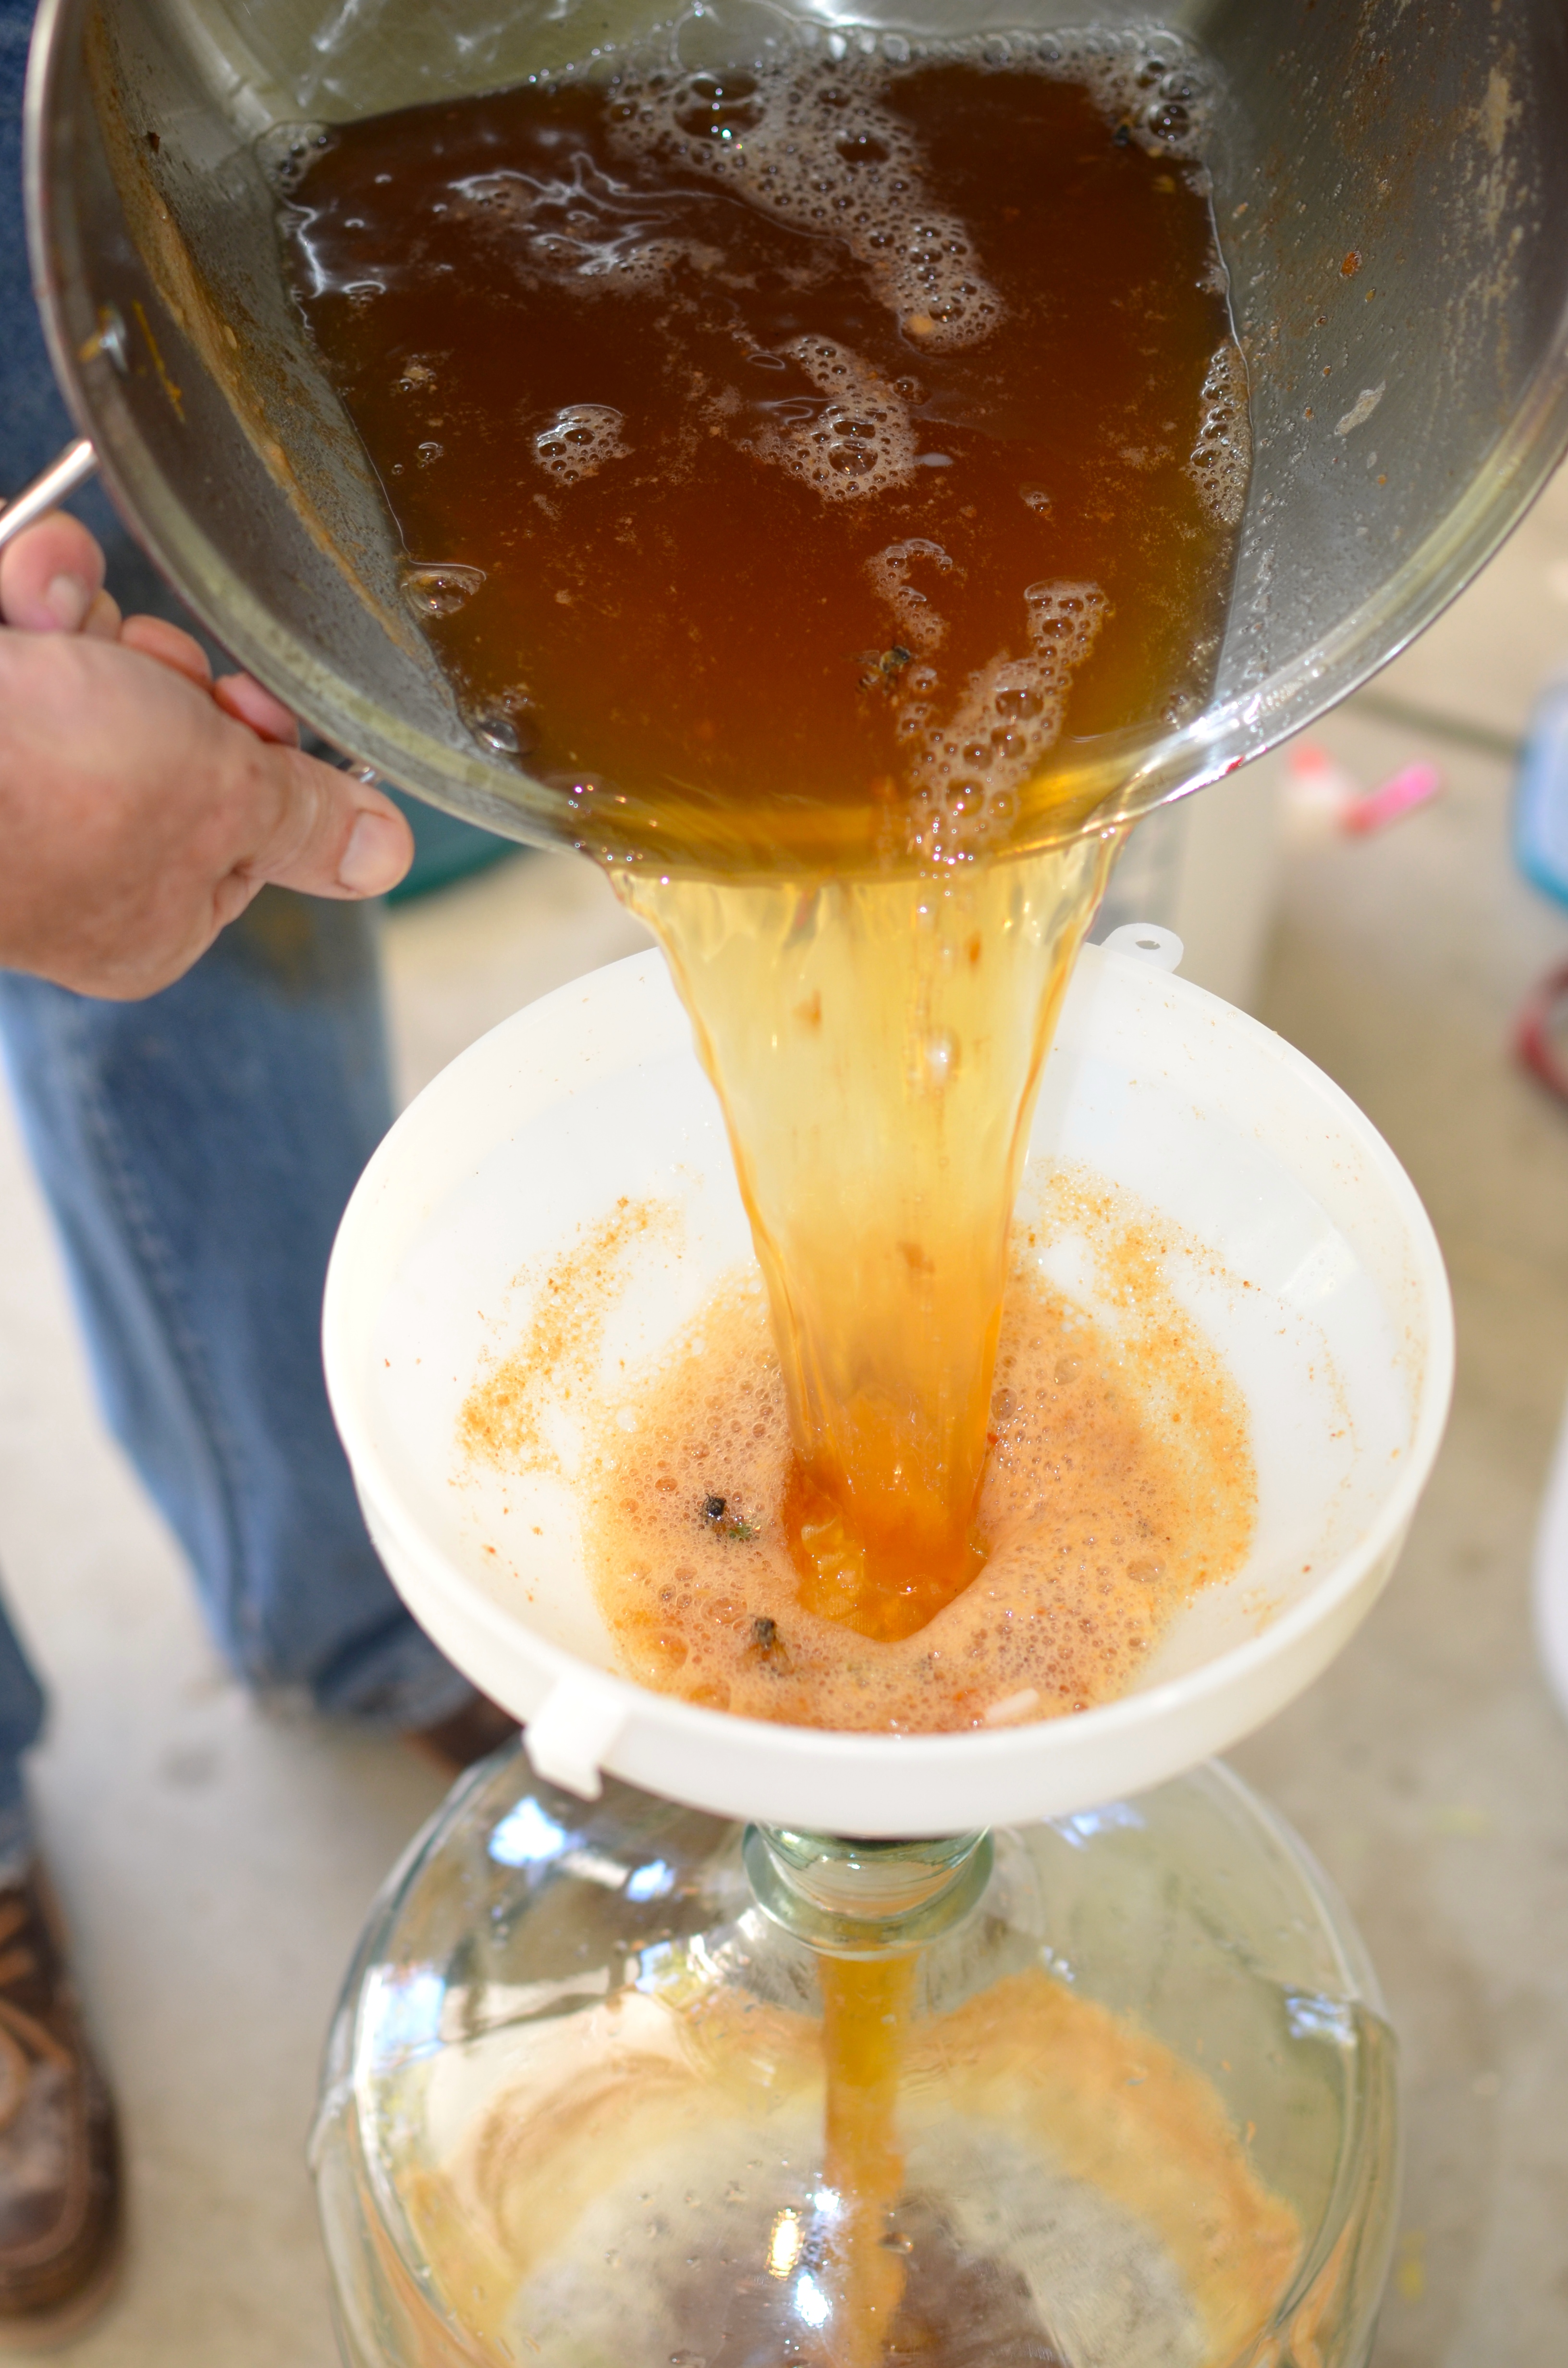
[[[1203,706],[1225,613],[1239,360],[1156,81],[628,64],[341,128],[291,189],[464,710],[670,954],[803,1598],[869,1639],[978,1568],[1007,1227],[1113,852],[1078,784]],[[846,2368],[902,2285],[905,1980],[824,1965]]]

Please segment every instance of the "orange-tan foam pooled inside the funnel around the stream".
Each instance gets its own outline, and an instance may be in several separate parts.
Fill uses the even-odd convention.
[[[1111,1321],[1033,1262],[1014,1269],[978,1506],[990,1558],[898,1643],[801,1601],[779,1359],[760,1293],[720,1286],[578,1482],[628,1677],[711,1710],[883,1733],[1030,1724],[1137,1679],[1172,1613],[1251,1544],[1246,1402],[1175,1298],[1168,1269],[1189,1255],[1175,1227],[1068,1172],[1052,1227],[1073,1234]],[[606,1416],[590,1428],[609,1437]]]

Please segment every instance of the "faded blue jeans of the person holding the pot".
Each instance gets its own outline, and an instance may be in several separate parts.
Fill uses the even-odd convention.
[[[26,279],[21,73],[0,0],[0,495],[69,440]],[[102,495],[121,604],[178,604]],[[0,848],[0,862],[5,850]],[[277,888],[178,985],[104,1004],[0,973],[0,1040],[99,1399],[256,1688],[426,1726],[471,1693],[374,1556],[320,1362],[327,1253],[391,1120],[374,914]],[[26,1838],[43,1693],[0,1606],[0,1864]]]

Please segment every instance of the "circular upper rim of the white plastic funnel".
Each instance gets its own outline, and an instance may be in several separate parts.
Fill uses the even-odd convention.
[[[1416,1288],[1416,1302],[1421,1319],[1426,1324],[1424,1359],[1419,1373],[1414,1376],[1414,1423],[1409,1440],[1400,1447],[1400,1471],[1388,1485],[1386,1494],[1379,1499],[1376,1513],[1343,1556],[1336,1558],[1334,1570],[1317,1584],[1307,1596],[1289,1606],[1267,1620],[1258,1634],[1232,1643],[1225,1650],[1203,1660],[1196,1669],[1182,1672],[1180,1677],[1161,1679],[1158,1684],[1144,1686],[1135,1693],[1118,1695],[1111,1703],[1097,1703],[1090,1710],[1066,1712],[1054,1719],[1037,1719],[1021,1726],[1009,1726],[1000,1731],[976,1731],[964,1729],[959,1733],[855,1733],[846,1729],[820,1729],[820,1726],[786,1726],[770,1719],[748,1719],[730,1710],[708,1710],[696,1703],[685,1703],[675,1695],[654,1693],[640,1686],[635,1679],[618,1669],[602,1667],[597,1662],[583,1660],[566,1646],[528,1629],[528,1658],[540,1672],[542,1686],[540,1698],[533,1705],[538,1710],[542,1700],[550,1698],[554,1686],[578,1684],[592,1686],[604,1700],[613,1700],[625,1712],[623,1733],[637,1726],[640,1719],[651,1717],[661,1724],[666,1733],[689,1736],[694,1743],[703,1745],[708,1755],[718,1745],[718,1755],[727,1762],[744,1764],[748,1757],[765,1755],[770,1762],[791,1767],[808,1764],[820,1771],[824,1752],[831,1752],[834,1764],[850,1771],[869,1769],[895,1769],[895,1771],[931,1771],[945,1774],[964,1769],[969,1774],[983,1774],[990,1769],[1007,1767],[1037,1767],[1042,1774],[1059,1759],[1080,1752],[1085,1745],[1113,1745],[1120,1736],[1137,1733],[1144,1726],[1153,1726],[1163,1714],[1175,1719],[1191,1719],[1194,1712],[1208,1714],[1215,1722],[1215,1712],[1222,1710],[1225,1700],[1239,1691],[1248,1688],[1253,1679],[1267,1679],[1286,1669],[1291,1662],[1312,1660],[1307,1641],[1319,1636],[1331,1636],[1336,1624],[1345,1617],[1355,1617],[1357,1596],[1371,1596],[1381,1589],[1383,1579],[1393,1570],[1393,1561],[1409,1527],[1416,1508],[1416,1499],[1426,1485],[1438,1444],[1442,1440],[1442,1428],[1447,1423],[1447,1409],[1454,1381],[1454,1319],[1452,1319],[1452,1295],[1447,1288],[1447,1274],[1442,1267],[1442,1255],[1438,1238],[1421,1205],[1421,1198],[1409,1182],[1405,1167],[1395,1158],[1393,1148],[1383,1141],[1371,1120],[1357,1108],[1357,1103],[1345,1094],[1341,1085],[1334,1082],[1315,1061],[1310,1061],[1296,1044],[1281,1037],[1277,1030],[1265,1028],[1260,1021],[1244,1011],[1220,1002],[1220,997],[1208,995],[1203,987],[1153,971],[1146,964],[1106,952],[1104,947],[1085,947],[1080,954],[1080,973],[1075,978],[1075,992],[1082,992],[1080,980],[1092,985],[1101,966],[1111,969],[1113,978],[1123,983],[1137,983],[1137,992],[1151,999],[1165,997],[1177,1006],[1187,1004],[1194,1014],[1213,1021],[1225,1014],[1225,1025],[1232,1032],[1251,1037],[1270,1061],[1279,1063],[1293,1080],[1305,1087],[1315,1101],[1322,1106],[1324,1118],[1329,1118],[1336,1130],[1348,1134],[1367,1163],[1376,1170],[1383,1189],[1395,1201],[1397,1215],[1405,1220],[1405,1238],[1412,1253],[1412,1281]],[[670,1037],[670,1049],[680,1049],[687,1028],[685,1011],[675,1002],[675,992],[668,985],[668,971],[663,957],[654,952],[630,954],[623,961],[606,964],[602,971],[587,978],[568,980],[552,995],[538,997],[521,1011],[512,1014],[488,1035],[469,1044],[431,1085],[419,1094],[410,1108],[393,1122],[388,1134],[377,1146],[360,1184],[355,1186],[339,1238],[332,1250],[332,1265],[327,1272],[327,1295],[324,1295],[324,1366],[327,1366],[327,1392],[332,1399],[332,1411],[336,1416],[339,1430],[343,1435],[343,1447],[348,1461],[355,1471],[355,1482],[360,1487],[360,1499],[365,1504],[372,1530],[381,1527],[388,1532],[388,1542],[396,1542],[398,1556],[405,1568],[419,1572],[429,1587],[431,1603],[462,1598],[462,1617],[469,1627],[488,1634],[502,1648],[505,1655],[514,1653],[516,1643],[516,1613],[507,1610],[486,1587],[460,1570],[445,1558],[445,1553],[424,1534],[415,1513],[405,1506],[400,1489],[396,1485],[396,1473],[391,1471],[391,1459],[377,1444],[372,1435],[369,1397],[360,1390],[353,1364],[360,1347],[351,1343],[351,1312],[348,1312],[348,1262],[355,1255],[358,1229],[367,1222],[372,1205],[377,1203],[386,1179],[398,1170],[403,1151],[412,1137],[426,1130],[431,1122],[441,1120],[441,1103],[450,1096],[464,1094],[467,1077],[474,1068],[483,1068],[495,1058],[495,1040],[512,1037],[516,1032],[540,1032],[542,1037],[554,1035],[554,1018],[568,1004],[583,1004],[585,999],[604,1002],[604,997],[661,992],[668,997],[663,1021],[666,1035]],[[658,1021],[658,1009],[654,1006],[654,1021]],[[621,1030],[621,1044],[625,1044],[625,1030]],[[540,1063],[540,1073],[557,1073],[568,1054],[564,1051],[559,1061]],[[621,1066],[632,1066],[642,1058],[640,1049],[632,1047],[630,1058]],[[616,1073],[616,1063],[604,1070]],[[495,1141],[505,1137],[497,1134]],[[426,1196],[426,1210],[438,1205],[438,1189]],[[403,1577],[393,1572],[398,1587]],[[426,1606],[429,1608],[429,1606]],[[417,1606],[419,1613],[419,1606]],[[429,1624],[429,1622],[426,1622]],[[441,1639],[438,1639],[441,1641]],[[1341,1639],[1343,1641],[1343,1639]],[[1319,1674],[1331,1648],[1326,1648],[1312,1667],[1305,1681]],[[1284,1688],[1274,1681],[1262,1688],[1270,1695],[1274,1710],[1291,1700],[1300,1684],[1291,1681]],[[1274,1698],[1277,1695],[1277,1698]],[[531,1714],[533,1714],[531,1710]],[[1210,1757],[1215,1748],[1229,1748],[1241,1733],[1258,1724],[1255,1717],[1241,1717],[1232,1724],[1225,1743],[1210,1743],[1199,1757]],[[1225,1719],[1217,1719],[1217,1729],[1225,1729]],[[1210,1731],[1215,1731],[1210,1726]],[[604,1757],[604,1767],[623,1774],[616,1757],[618,1748],[611,1748]],[[1175,1774],[1177,1767],[1191,1764],[1191,1757],[1175,1762],[1172,1767],[1161,1767],[1161,1774]],[[632,1781],[640,1781],[632,1776]],[[1158,1781],[1156,1776],[1146,1778]],[[1139,1785],[1135,1785],[1137,1790]],[[663,1788],[675,1790],[675,1788]],[[1087,1804],[1087,1802],[1080,1802]],[[694,1800],[694,1807],[713,1807],[725,1814],[727,1802],[715,1802],[711,1797]],[[734,1809],[730,1809],[734,1814]],[[748,1809],[746,1814],[760,1814]],[[1059,1812],[1047,1812],[1059,1814]],[[955,1812],[957,1816],[957,1812]],[[1016,1816],[1011,1819],[1016,1821]],[[955,1830],[962,1830],[969,1819],[959,1819]],[[857,1830],[895,1830],[883,1826],[857,1826]],[[921,1830],[926,1823],[921,1821]]]

